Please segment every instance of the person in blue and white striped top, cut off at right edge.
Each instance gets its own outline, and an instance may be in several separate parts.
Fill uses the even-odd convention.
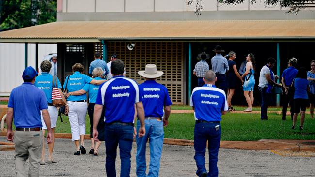
[[[315,60],[311,61],[311,71],[307,72],[307,80],[309,81],[310,92],[310,112],[311,118],[314,118],[314,104],[315,104]]]

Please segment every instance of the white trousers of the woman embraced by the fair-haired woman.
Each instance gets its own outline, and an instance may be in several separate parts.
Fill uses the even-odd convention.
[[[85,116],[88,108],[86,102],[72,102],[69,104],[69,122],[71,126],[72,141],[79,140],[80,135],[85,135]]]

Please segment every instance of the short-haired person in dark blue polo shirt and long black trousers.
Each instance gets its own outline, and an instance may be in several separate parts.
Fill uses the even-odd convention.
[[[284,92],[282,94],[283,96],[283,107],[282,107],[282,119],[286,119],[286,110],[288,108],[288,103],[290,102],[290,112],[291,112],[291,120],[293,120],[294,115],[294,101],[293,101],[293,95],[294,91],[291,88],[291,84],[293,82],[293,79],[298,74],[298,70],[295,68],[295,65],[297,64],[297,59],[292,58],[288,62],[288,68],[284,70],[284,72],[281,75],[281,83],[284,87]]]

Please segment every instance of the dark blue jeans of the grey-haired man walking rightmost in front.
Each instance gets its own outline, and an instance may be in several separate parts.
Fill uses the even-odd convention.
[[[215,126],[219,125],[218,129]],[[218,177],[219,170],[217,166],[218,153],[221,140],[221,124],[220,123],[196,123],[194,131],[194,148],[197,164],[198,176],[202,172],[206,172],[205,169],[205,148],[208,141],[209,150],[209,173],[208,177]]]

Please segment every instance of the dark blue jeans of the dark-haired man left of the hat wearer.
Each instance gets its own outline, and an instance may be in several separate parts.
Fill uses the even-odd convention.
[[[106,148],[106,175],[116,177],[115,161],[117,146],[121,160],[121,177],[130,175],[130,158],[133,142],[133,126],[126,125],[105,125],[105,148]]]

